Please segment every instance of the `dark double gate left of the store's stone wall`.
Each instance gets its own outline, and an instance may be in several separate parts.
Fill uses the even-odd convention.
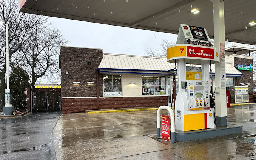
[[[33,111],[60,110],[60,92],[36,91],[34,92]]]

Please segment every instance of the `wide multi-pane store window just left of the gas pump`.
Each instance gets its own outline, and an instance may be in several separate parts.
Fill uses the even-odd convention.
[[[142,76],[142,95],[166,95],[166,77]]]

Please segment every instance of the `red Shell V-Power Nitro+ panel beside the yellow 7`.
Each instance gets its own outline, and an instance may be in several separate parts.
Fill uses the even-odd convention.
[[[214,59],[213,48],[187,46],[187,57]]]

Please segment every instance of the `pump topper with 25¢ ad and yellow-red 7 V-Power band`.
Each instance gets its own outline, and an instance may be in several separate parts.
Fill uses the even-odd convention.
[[[210,60],[213,64],[220,60],[206,29],[187,24],[180,24],[176,45],[167,48],[167,62],[176,63],[176,59],[185,59],[190,64],[201,64],[201,60]]]

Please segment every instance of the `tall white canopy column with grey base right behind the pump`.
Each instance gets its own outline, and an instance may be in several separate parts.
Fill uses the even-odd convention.
[[[224,0],[213,0],[214,23],[214,54],[218,54],[220,62],[215,64],[215,86],[219,87],[216,93],[216,125],[227,125],[226,104],[226,72],[225,72],[225,22]],[[213,86],[214,87],[214,86]]]

